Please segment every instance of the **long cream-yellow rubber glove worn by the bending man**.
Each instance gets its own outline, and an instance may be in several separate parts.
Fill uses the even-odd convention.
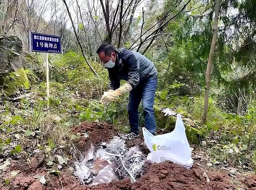
[[[102,98],[100,99],[100,103],[104,105],[108,105],[109,102],[114,100],[117,96],[130,92],[131,90],[132,90],[132,86],[126,83],[114,91],[104,92]]]

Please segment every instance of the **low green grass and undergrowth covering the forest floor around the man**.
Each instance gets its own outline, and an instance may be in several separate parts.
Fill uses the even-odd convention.
[[[28,56],[30,63],[42,64],[40,55]],[[34,149],[43,149],[49,155],[60,151],[59,147],[69,147],[75,134],[71,133],[74,125],[83,121],[105,121],[114,124],[120,132],[128,132],[128,114],[126,104],[128,94],[118,98],[108,106],[98,102],[103,92],[108,89],[106,70],[91,61],[99,76],[92,74],[81,55],[69,52],[50,57],[50,98],[46,98],[44,74],[36,68],[26,71],[30,90],[35,92],[28,98],[16,101],[4,96],[0,112],[0,151],[5,157],[22,155],[27,157]],[[164,117],[161,108],[173,108],[177,112],[200,123],[203,110],[203,94],[179,96],[177,90],[184,86],[175,82],[168,88],[156,92],[156,121],[158,129],[172,131],[175,117]],[[18,89],[22,92],[22,88]],[[208,142],[205,150],[212,160],[227,162],[234,166],[256,166],[256,103],[249,106],[245,116],[237,116],[218,108],[217,99],[209,100],[208,119],[205,126],[186,125],[186,134],[192,144],[199,146],[201,139]],[[144,125],[142,108],[140,127]],[[18,134],[18,135],[17,135]],[[16,136],[15,136],[16,135]],[[10,141],[10,142],[9,142]],[[15,142],[15,143],[14,143]],[[33,142],[33,143],[32,143]],[[33,144],[33,145],[32,145]],[[6,152],[4,147],[11,145]],[[29,148],[27,145],[30,145]],[[18,147],[16,147],[18,146]],[[15,152],[16,150],[16,152]]]

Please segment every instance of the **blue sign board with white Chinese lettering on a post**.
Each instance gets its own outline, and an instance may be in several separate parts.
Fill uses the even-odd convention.
[[[62,53],[58,35],[30,32],[30,51],[44,53]]]

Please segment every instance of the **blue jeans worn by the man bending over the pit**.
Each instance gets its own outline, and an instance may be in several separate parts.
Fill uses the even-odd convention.
[[[142,101],[145,127],[150,133],[156,133],[156,120],[154,113],[154,100],[156,92],[157,77],[138,84],[129,95],[127,105],[131,133],[139,134],[138,108]]]

